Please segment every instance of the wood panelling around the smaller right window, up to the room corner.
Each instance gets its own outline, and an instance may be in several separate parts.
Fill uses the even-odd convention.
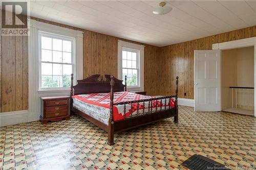
[[[157,95],[160,76],[160,47],[124,40],[121,38],[84,31],[83,35],[83,78],[94,74],[109,74],[117,77],[117,42],[119,40],[145,45],[144,48],[144,90]]]

